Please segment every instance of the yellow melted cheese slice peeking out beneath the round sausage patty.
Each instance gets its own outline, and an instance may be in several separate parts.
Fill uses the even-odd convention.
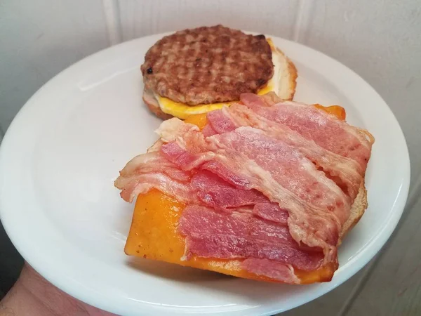
[[[263,95],[265,93],[274,91],[274,93],[278,93],[279,91],[279,74],[281,73],[281,65],[278,58],[278,52],[272,42],[272,39],[267,39],[267,42],[272,49],[272,62],[274,64],[274,75],[271,79],[267,82],[267,85],[261,88],[258,91],[258,95]],[[203,105],[186,105],[185,103],[175,102],[169,98],[164,98],[158,96],[157,94],[154,95],[156,100],[159,103],[159,107],[161,108],[162,112],[166,114],[171,114],[173,117],[178,117],[180,119],[186,119],[192,114],[202,114],[207,113],[213,110],[218,110],[222,107],[232,105],[232,103],[236,103],[236,101],[232,102],[224,102],[224,103],[211,103],[211,104],[203,104]]]

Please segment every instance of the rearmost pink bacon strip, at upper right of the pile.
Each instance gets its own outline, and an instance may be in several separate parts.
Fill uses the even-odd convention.
[[[354,159],[366,170],[372,144],[365,134],[345,121],[301,103],[285,101],[267,106],[253,93],[243,93],[241,102],[260,116],[288,126],[326,150]]]

